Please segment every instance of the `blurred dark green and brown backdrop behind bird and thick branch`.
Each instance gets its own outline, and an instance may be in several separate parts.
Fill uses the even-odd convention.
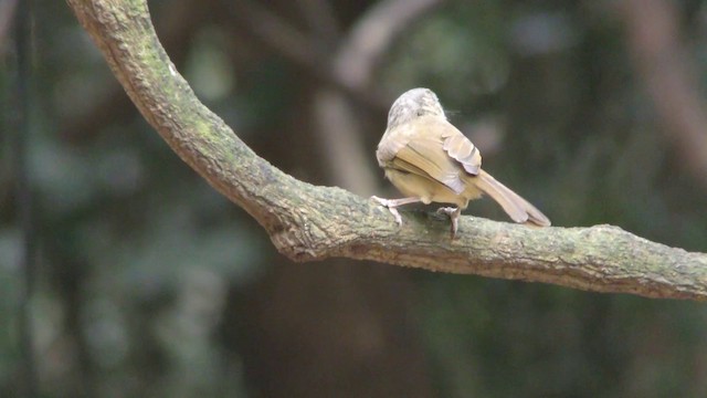
[[[33,4],[42,397],[707,396],[698,303],[289,262],[147,125],[68,7]],[[426,86],[555,226],[707,251],[707,1],[149,4],[200,98],[299,179],[397,196],[374,148],[392,101]],[[0,396],[15,397],[22,227],[0,33]],[[490,200],[467,213],[507,221]]]

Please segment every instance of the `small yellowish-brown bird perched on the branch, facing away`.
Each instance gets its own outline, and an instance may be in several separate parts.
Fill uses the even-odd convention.
[[[388,208],[399,226],[400,206],[455,205],[437,210],[450,217],[454,238],[462,210],[483,195],[498,202],[515,222],[550,226],[540,210],[482,169],[478,148],[450,123],[436,94],[429,88],[412,88],[395,100],[376,157],[386,178],[405,197],[372,199]]]

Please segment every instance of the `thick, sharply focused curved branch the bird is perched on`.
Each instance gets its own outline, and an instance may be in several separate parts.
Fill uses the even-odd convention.
[[[707,300],[707,255],[616,227],[534,229],[388,211],[340,188],[298,181],[257,157],[175,70],[145,0],[67,0],[116,77],[170,147],[245,209],[295,261],[346,256],[432,271],[545,282],[595,292]]]

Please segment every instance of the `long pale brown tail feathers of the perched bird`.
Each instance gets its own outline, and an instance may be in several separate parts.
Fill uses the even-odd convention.
[[[540,227],[550,226],[550,220],[540,210],[505,185],[498,182],[488,172],[481,170],[476,177],[476,187],[497,201],[514,221],[520,223],[532,222]]]

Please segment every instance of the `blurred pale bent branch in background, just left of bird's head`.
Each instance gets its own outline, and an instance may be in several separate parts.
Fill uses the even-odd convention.
[[[312,1],[312,0],[307,0]],[[369,90],[376,67],[404,28],[426,15],[439,0],[388,0],[377,3],[361,15],[340,41],[327,64],[334,76],[348,86]],[[366,156],[361,139],[363,126],[349,98],[335,90],[321,90],[314,101],[319,121],[319,138],[327,148],[331,174],[339,186],[361,195],[373,195],[377,174]]]

